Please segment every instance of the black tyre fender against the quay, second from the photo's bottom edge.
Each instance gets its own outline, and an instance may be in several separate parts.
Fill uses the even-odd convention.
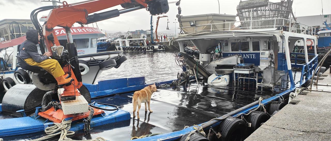
[[[246,122],[243,120],[234,117],[227,117],[221,122],[218,129],[218,132],[222,133],[220,140],[244,140],[247,137],[246,128]],[[236,137],[236,139],[233,139],[233,137]]]

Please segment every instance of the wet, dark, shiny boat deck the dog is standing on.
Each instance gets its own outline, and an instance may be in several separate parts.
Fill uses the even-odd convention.
[[[294,71],[294,81],[300,80],[301,72]],[[286,75],[285,75],[286,76]],[[258,100],[267,99],[285,91],[290,86],[287,77],[282,78],[282,85],[277,86],[272,93],[270,90],[256,90],[253,85],[240,87],[229,86],[197,86],[196,83],[181,87],[161,87],[155,92],[151,100],[153,112],[144,112],[145,105],[140,109],[140,119],[133,118],[133,92],[117,94],[111,97],[92,99],[102,103],[118,105],[119,108],[130,112],[131,119],[94,127],[89,133],[77,132],[72,139],[93,139],[98,136],[108,140],[130,140],[134,136],[151,133],[168,133],[178,131],[184,126],[192,126],[220,117],[240,107]],[[201,84],[201,83],[199,83]],[[0,115],[3,119],[5,115]],[[5,140],[35,139],[44,134],[29,134],[5,137]]]

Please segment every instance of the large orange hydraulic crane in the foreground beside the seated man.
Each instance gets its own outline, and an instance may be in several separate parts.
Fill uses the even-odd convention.
[[[111,10],[102,13],[95,13],[100,10],[111,8],[117,5],[121,5],[124,9],[122,10]],[[89,24],[113,17],[119,16],[119,14],[135,11],[138,9],[146,8],[147,11],[152,15],[158,15],[168,12],[169,6],[167,0],[87,0],[84,2],[78,2],[73,4],[68,4],[66,1],[63,2],[61,6],[45,6],[38,9],[35,9],[31,12],[30,17],[33,25],[39,31],[39,35],[42,37],[40,40],[39,46],[41,52],[45,52],[44,44],[49,52],[52,53],[53,59],[56,59],[65,73],[71,75],[71,78],[74,79],[71,84],[64,85],[64,91],[61,91],[60,94],[60,103],[66,103],[65,101],[70,102],[80,102],[78,97],[80,93],[77,88],[82,86],[82,77],[78,65],[78,56],[76,45],[73,42],[70,28],[74,23]],[[44,24],[41,26],[37,20],[37,14],[42,11],[51,10],[48,14]],[[95,14],[92,14],[95,13]],[[90,14],[90,15],[89,15]],[[64,47],[60,45],[59,40],[57,39],[54,27],[59,26],[63,27],[67,34],[68,43],[67,52],[63,52]],[[45,74],[41,74],[40,78],[46,78]],[[47,78],[46,78],[47,79]],[[50,80],[51,81],[51,80]],[[58,88],[62,86],[56,86],[52,93],[56,93]],[[46,94],[45,94],[46,95]],[[78,98],[76,100],[76,97]],[[80,97],[81,98],[81,97]],[[86,100],[85,100],[86,101]],[[87,102],[86,102],[87,103]],[[87,104],[84,106],[88,106]],[[50,108],[45,112],[38,113],[40,116],[47,119],[58,119],[62,121],[66,117],[74,117],[75,120],[86,118],[86,114],[82,115],[70,115],[64,114],[64,108],[69,110],[74,110],[73,113],[86,113],[88,108],[82,108],[83,110],[70,109],[71,106],[61,107],[60,110],[55,110]],[[99,112],[100,113],[100,112]],[[87,114],[88,115],[88,114]],[[54,120],[52,120],[54,121]]]

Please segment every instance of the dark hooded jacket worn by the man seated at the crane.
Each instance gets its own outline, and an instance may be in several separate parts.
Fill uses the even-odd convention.
[[[38,53],[38,31],[28,29],[25,33],[26,40],[21,44],[19,54],[23,59],[32,58],[35,62],[40,63],[48,57]]]

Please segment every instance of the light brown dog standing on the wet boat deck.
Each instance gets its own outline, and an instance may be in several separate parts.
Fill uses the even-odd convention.
[[[137,116],[138,116],[138,119],[140,119],[139,118],[139,110],[140,110],[140,107],[141,107],[141,103],[143,103],[143,102],[145,103],[145,111],[147,111],[147,106],[146,106],[146,102],[147,102],[149,112],[153,112],[151,110],[150,103],[151,103],[152,94],[156,91],[158,91],[156,89],[156,85],[153,84],[153,85],[148,85],[144,89],[142,89],[140,91],[135,91],[133,93],[133,97],[132,97],[133,117],[136,117],[134,113],[136,112],[137,105],[138,105]]]

